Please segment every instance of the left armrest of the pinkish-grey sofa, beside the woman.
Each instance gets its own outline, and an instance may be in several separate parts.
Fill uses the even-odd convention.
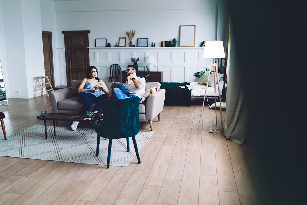
[[[50,98],[50,103],[52,107],[52,112],[58,113],[57,102],[65,100],[72,97],[72,88],[63,88],[48,93]]]

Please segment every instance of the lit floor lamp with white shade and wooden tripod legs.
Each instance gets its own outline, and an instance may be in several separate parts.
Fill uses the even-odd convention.
[[[225,51],[224,51],[224,45],[223,41],[206,41],[205,48],[204,48],[204,55],[203,58],[212,58],[213,63],[210,63],[210,68],[209,68],[209,73],[208,73],[208,78],[207,78],[207,84],[206,84],[206,89],[205,89],[205,95],[204,95],[204,101],[203,101],[203,106],[201,108],[200,112],[200,117],[199,117],[199,122],[198,122],[198,127],[200,124],[200,119],[203,114],[204,110],[204,103],[205,103],[205,98],[206,96],[214,96],[214,101],[215,101],[215,124],[217,124],[217,119],[216,119],[216,96],[219,96],[220,98],[220,113],[221,113],[221,122],[223,125],[223,120],[222,120],[222,107],[221,107],[221,93],[220,93],[220,84],[219,84],[219,78],[217,75],[217,65],[214,62],[216,58],[225,58]],[[214,93],[207,93],[207,87],[209,83],[209,78],[210,78],[210,73],[211,73],[211,68],[213,67],[213,76],[214,76]],[[216,81],[217,81],[217,86],[219,89],[219,93],[216,93]]]

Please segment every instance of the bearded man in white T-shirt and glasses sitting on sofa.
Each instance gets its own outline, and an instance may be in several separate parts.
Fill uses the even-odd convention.
[[[126,83],[125,83],[127,90],[130,93],[135,93],[135,94],[126,95],[119,88],[113,88],[113,92],[114,92],[117,99],[138,96],[140,98],[140,101],[141,101],[142,96],[145,93],[145,78],[138,77],[136,75],[135,69],[136,68],[135,68],[134,65],[128,65],[128,68],[126,70],[126,74],[127,74],[127,76],[130,76],[133,83],[129,84],[128,81],[126,81]]]

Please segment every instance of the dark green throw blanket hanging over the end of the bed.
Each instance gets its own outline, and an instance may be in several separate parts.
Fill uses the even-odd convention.
[[[160,89],[165,89],[165,106],[191,106],[191,91],[185,86],[190,83],[161,83]],[[179,86],[185,86],[180,88]]]

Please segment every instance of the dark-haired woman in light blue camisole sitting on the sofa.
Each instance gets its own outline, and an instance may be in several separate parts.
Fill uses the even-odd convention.
[[[98,71],[95,66],[87,68],[87,78],[84,78],[78,88],[79,102],[84,104],[80,110],[80,115],[85,115],[87,110],[90,110],[93,103],[96,103],[95,110],[92,114],[97,113],[102,105],[102,101],[107,98],[106,94],[110,93],[106,84],[97,77]],[[102,90],[105,94],[100,94]],[[76,130],[79,122],[72,122],[72,130]]]

